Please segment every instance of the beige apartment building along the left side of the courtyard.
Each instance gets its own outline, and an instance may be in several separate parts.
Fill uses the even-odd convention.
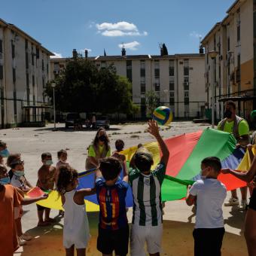
[[[43,95],[54,55],[17,26],[0,19],[0,126],[42,120],[48,99]]]

